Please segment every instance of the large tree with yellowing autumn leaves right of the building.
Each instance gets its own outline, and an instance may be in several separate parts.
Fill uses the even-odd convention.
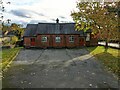
[[[114,4],[114,5],[113,5]],[[73,11],[71,16],[76,23],[77,30],[88,30],[91,28],[93,34],[99,34],[99,38],[105,40],[106,47],[111,39],[117,40],[118,14],[110,11],[116,9],[117,3],[106,2],[77,2],[78,11]]]

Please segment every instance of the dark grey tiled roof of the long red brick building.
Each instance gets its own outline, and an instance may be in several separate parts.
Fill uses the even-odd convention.
[[[88,30],[89,32],[91,30]],[[39,23],[28,24],[24,36],[36,36],[37,34],[80,34],[83,31],[75,30],[75,23]]]

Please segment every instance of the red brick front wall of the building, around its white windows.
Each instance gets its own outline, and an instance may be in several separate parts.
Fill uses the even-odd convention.
[[[42,42],[42,36],[47,36],[47,42]],[[61,42],[56,42],[55,37],[60,36]],[[46,48],[46,47],[79,47],[84,46],[86,44],[85,38],[80,37],[80,35],[72,35],[74,36],[74,42],[69,42],[69,36],[71,35],[37,35],[35,40],[35,46]],[[83,38],[84,41],[81,41],[80,38]],[[25,46],[31,46],[31,37],[24,37]]]

